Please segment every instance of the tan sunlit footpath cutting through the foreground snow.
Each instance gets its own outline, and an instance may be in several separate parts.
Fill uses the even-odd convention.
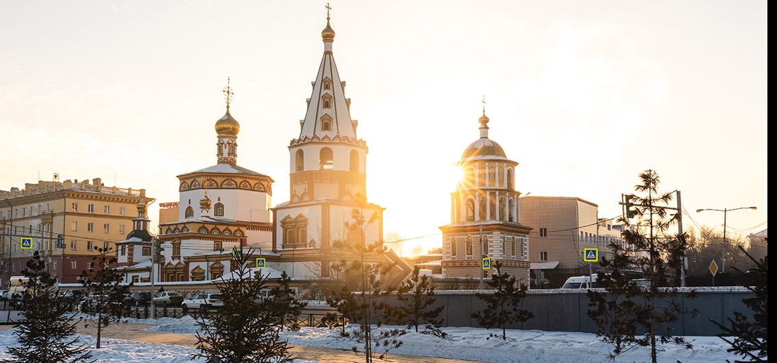
[[[152,344],[177,344],[185,347],[196,347],[197,337],[188,334],[176,333],[156,333],[144,331],[151,327],[151,324],[118,323],[103,328],[103,341],[114,339],[134,340]],[[78,333],[96,336],[97,330],[94,328],[85,328],[82,324],[78,326]],[[325,347],[307,347],[303,345],[291,346],[291,354],[294,358],[305,359],[309,361],[320,361],[322,363],[360,363],[364,358],[357,357],[353,351],[345,349],[333,349]],[[406,354],[386,354],[385,361],[399,361],[407,363],[453,363],[465,362],[460,359],[419,357]],[[466,361],[472,362],[472,361]]]

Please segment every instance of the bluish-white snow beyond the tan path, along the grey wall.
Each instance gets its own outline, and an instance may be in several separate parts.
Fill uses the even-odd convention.
[[[184,320],[188,319],[188,321]],[[398,327],[398,326],[393,326]],[[392,326],[387,326],[391,329]],[[197,332],[194,320],[160,319],[158,326],[147,330],[165,333],[193,334]],[[507,336],[512,340],[491,338],[490,333],[497,330],[479,328],[443,328],[448,336],[445,339],[427,334],[408,332],[399,339],[402,346],[391,351],[396,354],[412,354],[428,357],[458,358],[476,361],[530,361],[532,363],[559,363],[575,361],[576,363],[607,361],[611,345],[602,343],[591,333],[549,332],[542,330],[507,330]],[[354,344],[350,340],[340,338],[340,329],[303,327],[298,332],[285,332],[283,337],[289,344],[308,345],[314,347],[332,347],[350,349]],[[726,352],[729,347],[718,337],[688,337],[693,342],[693,349],[688,350],[674,344],[660,347],[658,361],[685,363],[693,361],[733,361],[736,356]],[[650,361],[650,349],[638,347],[622,354],[615,361]]]

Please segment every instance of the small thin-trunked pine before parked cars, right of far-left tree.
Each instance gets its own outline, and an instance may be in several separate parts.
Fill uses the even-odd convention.
[[[90,318],[86,320],[97,328],[96,347],[99,349],[103,327],[121,321],[121,310],[124,304],[123,294],[132,284],[124,285],[124,274],[111,267],[117,263],[117,258],[108,256],[110,248],[98,248],[97,252],[99,254],[92,257],[92,265],[89,270],[82,271],[81,276],[78,277],[78,282],[86,288],[87,300],[85,300],[84,306],[93,308],[85,311],[90,315]],[[89,298],[92,300],[90,301]],[[86,306],[87,303],[93,305]],[[89,323],[86,324],[86,326],[89,325]]]

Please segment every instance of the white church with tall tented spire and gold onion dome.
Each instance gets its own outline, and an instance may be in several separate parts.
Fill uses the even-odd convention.
[[[155,281],[210,281],[228,274],[234,248],[251,248],[267,261],[265,271],[285,271],[293,279],[329,277],[332,264],[349,255],[340,241],[374,246],[368,262],[388,268],[389,282],[412,269],[383,247],[383,211],[367,199],[367,142],[357,137],[350,99],[333,57],[335,32],[327,16],[324,50],[305,118],[289,152],[289,201],[272,208],[274,180],[238,165],[240,124],[230,111],[232,89],[225,88],[226,111],[216,132],[216,164],[178,176],[174,220],[160,218],[162,257]],[[119,245],[127,281],[148,281],[152,243],[145,238],[145,206],[139,206],[134,231]],[[353,227],[355,216],[368,222]]]

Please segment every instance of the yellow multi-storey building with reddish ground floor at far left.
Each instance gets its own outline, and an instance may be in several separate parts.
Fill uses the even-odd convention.
[[[116,253],[116,241],[132,229],[138,203],[148,203],[145,189],[105,187],[91,180],[40,180],[0,191],[0,257],[2,284],[22,274],[34,251],[40,251],[51,274],[61,283],[75,283],[87,269],[98,248]],[[62,244],[57,246],[57,236]],[[21,238],[31,237],[32,248],[21,248]]]

